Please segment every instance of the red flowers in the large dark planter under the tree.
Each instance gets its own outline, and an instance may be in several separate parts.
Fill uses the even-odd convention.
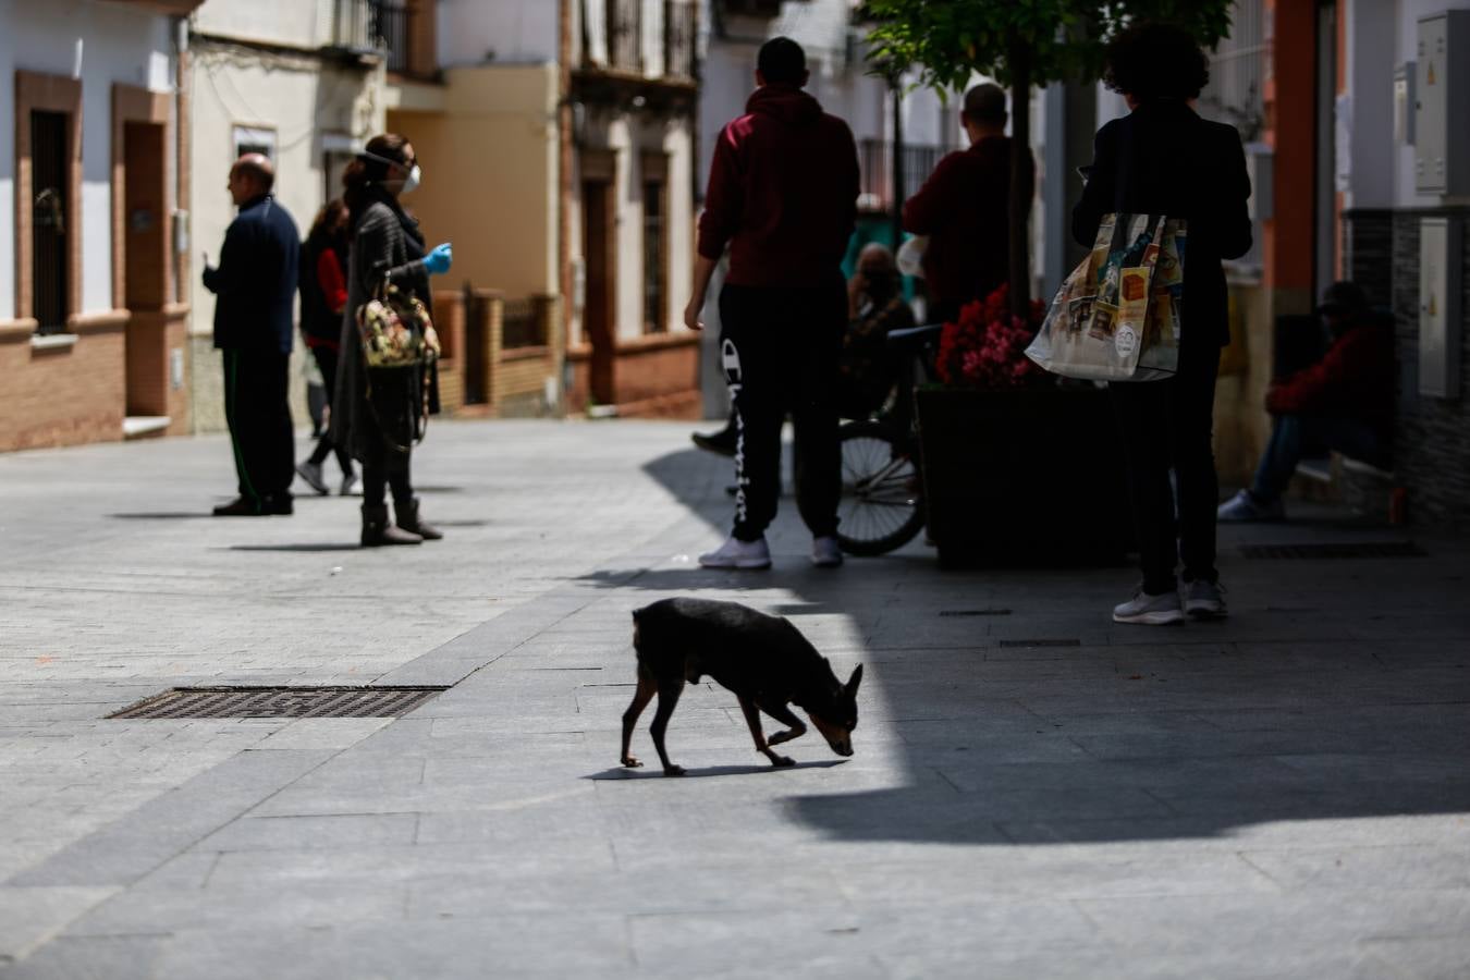
[[[1030,322],[1010,311],[1010,287],[1001,284],[985,301],[960,310],[958,323],[945,323],[939,334],[935,370],[954,388],[1025,388],[1044,379],[1045,372],[1026,357],[1026,347],[1047,314],[1041,300],[1032,300]]]

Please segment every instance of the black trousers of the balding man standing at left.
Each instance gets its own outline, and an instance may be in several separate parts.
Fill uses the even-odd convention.
[[[225,350],[225,422],[240,495],[257,504],[290,491],[295,475],[290,354]]]

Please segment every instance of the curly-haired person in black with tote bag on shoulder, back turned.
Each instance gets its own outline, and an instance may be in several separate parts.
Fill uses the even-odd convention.
[[[1251,247],[1245,153],[1233,126],[1194,112],[1210,75],[1186,31],[1135,25],[1108,46],[1107,65],[1107,85],[1123,93],[1132,112],[1097,134],[1082,200],[1072,212],[1073,237],[1092,245],[1107,213],[1188,222],[1179,372],[1169,381],[1111,385],[1144,570],[1141,589],[1113,619],[1164,624],[1186,614],[1219,617],[1226,610],[1214,567],[1220,486],[1211,429],[1220,348],[1230,339],[1220,262]],[[1175,576],[1180,563],[1183,597]]]

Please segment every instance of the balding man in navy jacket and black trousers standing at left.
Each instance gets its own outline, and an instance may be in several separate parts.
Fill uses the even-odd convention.
[[[270,195],[270,160],[247,153],[229,169],[240,213],[225,232],[219,266],[204,262],[215,294],[215,347],[225,359],[225,420],[235,451],[240,497],[216,517],[291,513],[295,448],[287,401],[293,300],[301,238]]]

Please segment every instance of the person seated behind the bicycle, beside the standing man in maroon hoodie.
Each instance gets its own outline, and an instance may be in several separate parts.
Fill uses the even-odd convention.
[[[838,411],[866,419],[883,407],[897,381],[888,331],[914,326],[904,300],[894,253],[872,242],[858,253],[857,272],[847,282],[847,334],[838,361]]]

